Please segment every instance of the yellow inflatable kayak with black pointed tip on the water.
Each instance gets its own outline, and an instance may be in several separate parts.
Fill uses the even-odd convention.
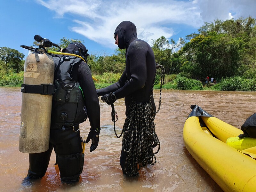
[[[243,133],[241,129],[197,105],[191,109],[183,140],[196,162],[225,192],[256,191],[256,139],[241,140],[237,137]]]

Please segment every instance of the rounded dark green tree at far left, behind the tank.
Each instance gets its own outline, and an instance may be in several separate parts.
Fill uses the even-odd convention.
[[[11,49],[9,47],[0,47],[0,59],[4,61],[4,69],[8,70],[8,64],[12,64],[13,69],[19,69],[20,63],[24,58],[24,54],[20,53],[16,49]],[[18,72],[18,71],[16,71]]]

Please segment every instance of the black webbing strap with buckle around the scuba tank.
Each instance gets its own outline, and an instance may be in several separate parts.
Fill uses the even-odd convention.
[[[52,95],[54,93],[54,85],[53,84],[41,84],[41,85],[21,84],[21,92],[38,93],[41,95]]]

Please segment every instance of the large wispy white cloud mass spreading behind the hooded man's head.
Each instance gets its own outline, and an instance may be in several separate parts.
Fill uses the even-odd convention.
[[[123,20],[132,21],[138,37],[151,43],[151,39],[165,36],[172,38],[177,33],[175,25],[199,28],[204,21],[233,16],[255,17],[254,0],[38,0],[56,12],[56,17],[74,15],[75,27],[70,30],[108,47],[114,45],[113,33]],[[177,30],[177,29],[176,29]]]

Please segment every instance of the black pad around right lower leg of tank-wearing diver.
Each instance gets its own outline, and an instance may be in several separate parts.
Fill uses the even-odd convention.
[[[64,181],[77,181],[84,167],[84,154],[56,155],[60,169],[60,179]]]

